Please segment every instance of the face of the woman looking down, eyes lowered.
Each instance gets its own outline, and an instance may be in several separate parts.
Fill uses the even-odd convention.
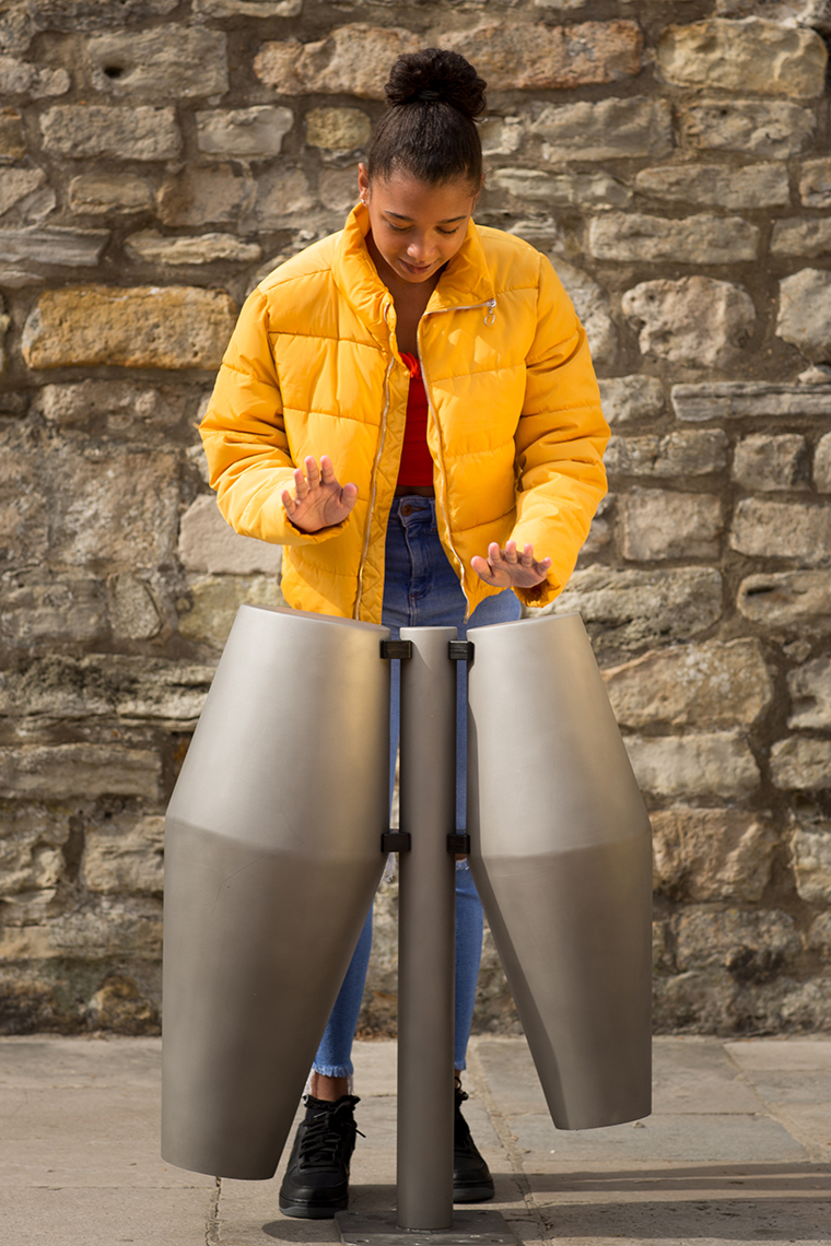
[[[358,189],[381,259],[396,277],[414,283],[435,277],[453,258],[477,198],[465,177],[431,186],[394,171],[370,183],[365,164],[359,166]]]

